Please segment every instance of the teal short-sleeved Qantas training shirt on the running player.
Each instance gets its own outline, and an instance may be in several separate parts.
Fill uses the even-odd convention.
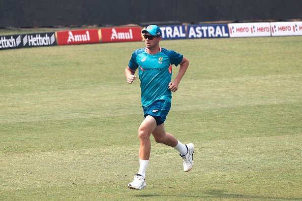
[[[172,93],[168,89],[172,77],[172,64],[177,66],[183,55],[173,50],[160,48],[157,54],[148,54],[146,48],[138,49],[129,61],[129,68],[136,70],[141,89],[142,106],[150,106],[160,99],[171,103]]]

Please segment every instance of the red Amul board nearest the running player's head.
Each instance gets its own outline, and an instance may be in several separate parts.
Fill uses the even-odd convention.
[[[102,43],[142,41],[140,27],[101,28]]]

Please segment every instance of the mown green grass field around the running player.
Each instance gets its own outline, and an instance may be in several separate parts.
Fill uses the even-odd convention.
[[[137,173],[143,42],[0,51],[0,200],[302,200],[302,37],[162,41],[189,69]],[[177,68],[173,68],[176,76]]]

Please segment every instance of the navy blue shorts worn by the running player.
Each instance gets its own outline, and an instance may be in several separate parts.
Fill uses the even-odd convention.
[[[143,106],[144,117],[150,115],[156,120],[156,125],[163,124],[170,111],[171,103],[166,100],[158,100],[148,107]]]

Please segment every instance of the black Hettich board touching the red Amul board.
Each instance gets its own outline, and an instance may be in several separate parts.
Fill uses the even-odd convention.
[[[56,45],[55,32],[22,34],[23,47]]]

